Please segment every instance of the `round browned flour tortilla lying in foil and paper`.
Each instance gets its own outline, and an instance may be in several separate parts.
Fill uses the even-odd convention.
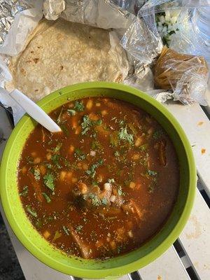
[[[127,76],[128,62],[120,45],[111,49],[107,30],[62,19],[42,20],[25,50],[11,59],[10,71],[13,81],[6,88],[18,88],[37,101],[74,83],[121,82]]]

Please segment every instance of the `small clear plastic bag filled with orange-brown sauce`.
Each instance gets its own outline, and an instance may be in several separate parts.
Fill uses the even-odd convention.
[[[154,80],[157,87],[173,90],[174,100],[206,104],[208,68],[204,57],[183,55],[164,47],[154,67]]]

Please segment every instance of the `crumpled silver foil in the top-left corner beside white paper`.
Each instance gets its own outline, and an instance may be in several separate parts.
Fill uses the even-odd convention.
[[[31,3],[24,0],[0,0],[0,45],[3,44],[16,13],[31,8]]]

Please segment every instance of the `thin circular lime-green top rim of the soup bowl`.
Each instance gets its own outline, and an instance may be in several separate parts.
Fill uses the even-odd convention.
[[[15,218],[13,217],[12,211],[10,209],[10,203],[8,199],[8,192],[7,188],[3,188],[2,186],[6,186],[6,166],[8,164],[8,158],[10,155],[10,148],[13,146],[13,140],[16,137],[16,134],[18,133],[18,130],[25,125],[27,120],[30,118],[29,116],[23,116],[18,124],[15,126],[12,134],[10,134],[10,137],[7,141],[6,147],[3,151],[3,157],[1,160],[1,169],[0,169],[0,196],[1,196],[1,202],[3,205],[3,211],[6,214],[6,218],[8,220],[8,223],[10,225],[10,228],[15,233],[16,237],[18,237],[19,241],[27,248],[27,250],[34,255],[38,260],[43,262],[45,265],[48,265],[49,267],[52,267],[53,269],[56,269],[59,272],[62,272],[64,274],[71,274],[73,276],[79,276],[79,277],[85,277],[85,278],[103,278],[103,277],[109,277],[109,275],[116,275],[116,276],[123,276],[123,274],[127,274],[130,272],[133,272],[135,270],[138,270],[141,267],[144,267],[145,265],[148,265],[153,260],[158,258],[162,253],[167,251],[169,246],[171,246],[174,241],[179,237],[181,234],[181,231],[183,230],[184,226],[186,225],[188,218],[190,216],[190,211],[193,208],[193,202],[195,199],[195,186],[196,186],[196,167],[195,167],[195,160],[193,157],[193,151],[190,146],[190,143],[186,137],[185,132],[183,131],[181,125],[179,122],[174,118],[172,113],[170,113],[164,105],[160,104],[160,102],[153,99],[153,97],[149,96],[148,94],[141,92],[140,90],[137,90],[134,87],[130,87],[127,85],[122,85],[118,83],[109,83],[109,82],[87,82],[87,83],[78,83],[76,85],[69,85],[67,87],[64,87],[60,90],[56,90],[55,92],[52,92],[48,96],[44,97],[40,101],[37,102],[39,106],[44,106],[48,102],[50,102],[54,97],[57,96],[57,93],[61,91],[78,91],[78,90],[87,90],[91,88],[104,88],[104,89],[113,89],[113,90],[119,90],[123,92],[127,92],[128,94],[132,94],[136,97],[139,97],[140,99],[144,99],[146,102],[154,106],[160,113],[162,113],[167,120],[169,120],[170,123],[172,123],[174,130],[179,134],[179,137],[183,143],[183,147],[186,151],[186,158],[188,161],[188,167],[189,167],[189,190],[188,190],[188,196],[186,199],[186,204],[183,208],[182,214],[179,218],[178,223],[176,223],[174,229],[170,234],[167,236],[167,238],[162,241],[162,243],[157,246],[153,251],[148,253],[147,255],[144,255],[143,258],[140,260],[135,260],[134,262],[130,262],[126,265],[120,266],[120,267],[113,267],[110,269],[80,269],[75,267],[69,267],[69,265],[61,264],[60,262],[57,262],[56,260],[50,258],[50,255],[46,255],[44,252],[39,251],[38,248],[36,248],[36,244],[32,244],[29,239],[27,239],[27,234],[22,235],[22,233],[18,230],[18,223],[15,221]],[[140,265],[141,261],[141,265]]]

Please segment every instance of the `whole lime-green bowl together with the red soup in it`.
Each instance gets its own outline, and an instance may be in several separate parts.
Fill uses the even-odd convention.
[[[22,244],[46,265],[120,276],[179,236],[195,163],[179,123],[148,95],[114,83],[65,87],[38,104],[62,128],[24,116],[1,163],[1,200]]]

